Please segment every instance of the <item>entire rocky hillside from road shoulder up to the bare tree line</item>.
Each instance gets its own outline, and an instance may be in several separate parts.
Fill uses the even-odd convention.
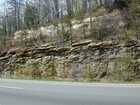
[[[140,6],[111,3],[13,33],[1,45],[0,76],[127,82],[140,80]],[[90,10],[90,12],[89,12]]]

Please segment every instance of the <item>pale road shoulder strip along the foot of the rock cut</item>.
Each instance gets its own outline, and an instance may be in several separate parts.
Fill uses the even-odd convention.
[[[12,79],[0,79],[0,81],[6,82],[18,82],[29,84],[45,84],[45,85],[66,85],[66,86],[91,86],[91,87],[114,87],[114,88],[140,88],[140,84],[117,84],[117,83],[73,83],[73,82],[50,82],[50,81],[25,81],[25,80],[12,80]]]

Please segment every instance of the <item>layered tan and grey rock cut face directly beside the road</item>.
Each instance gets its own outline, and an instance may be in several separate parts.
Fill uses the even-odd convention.
[[[17,48],[0,51],[0,75],[41,79],[138,80],[139,55],[139,44],[119,45],[111,41],[93,43],[87,40],[67,47]]]

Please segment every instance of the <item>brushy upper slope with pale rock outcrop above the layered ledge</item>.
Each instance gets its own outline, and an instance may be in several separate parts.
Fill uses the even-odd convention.
[[[0,29],[1,48],[70,45],[87,39],[93,42],[111,40],[115,43],[139,41],[139,10],[139,3],[132,1],[126,5],[119,0],[79,9],[48,23],[42,21],[40,24],[27,24],[22,30],[13,31],[10,35],[4,35],[9,33],[4,31],[9,29],[3,29],[9,27],[5,23]]]

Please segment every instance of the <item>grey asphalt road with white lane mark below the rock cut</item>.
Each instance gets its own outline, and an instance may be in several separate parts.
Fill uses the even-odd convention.
[[[140,85],[0,79],[0,105],[140,105]]]

